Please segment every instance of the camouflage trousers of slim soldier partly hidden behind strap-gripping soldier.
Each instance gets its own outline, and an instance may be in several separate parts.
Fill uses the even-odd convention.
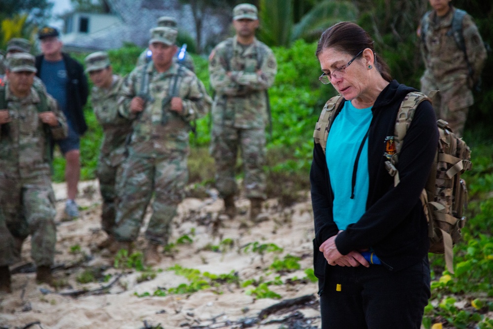
[[[118,203],[117,191],[121,188],[122,165],[111,166],[100,157],[98,162],[97,176],[99,180],[99,190],[103,198],[101,213],[101,226],[108,234],[112,234],[115,225],[116,208]]]

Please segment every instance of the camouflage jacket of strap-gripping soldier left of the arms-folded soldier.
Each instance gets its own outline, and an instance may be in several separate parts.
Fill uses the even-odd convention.
[[[148,93],[144,110],[136,115],[130,111],[132,98],[140,94],[142,79],[148,74]],[[178,78],[175,79],[179,73]],[[176,81],[174,96],[183,102],[183,114],[163,107]],[[164,73],[155,70],[152,62],[135,68],[125,79],[119,97],[119,112],[133,120],[129,151],[143,157],[167,157],[176,152],[188,152],[190,122],[203,116],[211,107],[211,97],[195,73],[172,64]]]

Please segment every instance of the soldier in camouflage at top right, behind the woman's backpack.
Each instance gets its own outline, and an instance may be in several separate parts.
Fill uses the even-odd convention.
[[[472,88],[478,82],[486,59],[486,49],[471,16],[462,11],[461,31],[454,32],[454,19],[460,10],[451,0],[430,0],[431,12],[423,16],[418,35],[426,70],[421,77],[421,91],[440,90],[433,102],[437,117],[449,122],[462,136],[467,112],[473,105]],[[454,36],[456,35],[456,36]],[[458,40],[465,49],[461,49]]]

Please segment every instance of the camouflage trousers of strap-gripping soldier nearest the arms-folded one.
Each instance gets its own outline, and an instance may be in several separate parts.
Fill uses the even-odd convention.
[[[123,164],[120,202],[113,229],[117,240],[137,239],[154,193],[145,238],[154,244],[168,243],[172,220],[177,205],[183,200],[188,180],[187,154],[181,153],[166,159],[129,155]]]

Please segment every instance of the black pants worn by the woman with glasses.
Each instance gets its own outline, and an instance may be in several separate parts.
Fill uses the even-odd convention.
[[[331,266],[320,295],[322,329],[420,329],[429,297],[427,256],[397,272]]]

